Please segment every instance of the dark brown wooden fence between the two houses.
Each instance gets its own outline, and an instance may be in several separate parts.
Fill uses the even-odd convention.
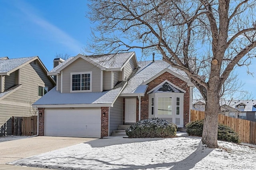
[[[12,135],[32,136],[37,134],[37,116],[12,117]]]

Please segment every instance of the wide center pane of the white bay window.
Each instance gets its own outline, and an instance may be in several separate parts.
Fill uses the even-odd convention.
[[[158,115],[172,115],[172,97],[158,97]]]

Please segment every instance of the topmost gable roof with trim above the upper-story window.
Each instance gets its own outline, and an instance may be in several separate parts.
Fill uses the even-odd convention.
[[[134,57],[136,63],[138,65],[136,55],[134,52],[126,52],[126,53],[117,53],[117,54],[103,54],[103,55],[82,55],[78,54],[76,57],[70,57],[68,60],[64,61],[57,67],[54,67],[52,70],[48,72],[48,75],[56,75],[60,73],[65,67],[76,61],[78,58],[82,58],[89,63],[99,67],[101,70],[106,71],[121,71],[124,65],[128,63],[128,61]]]

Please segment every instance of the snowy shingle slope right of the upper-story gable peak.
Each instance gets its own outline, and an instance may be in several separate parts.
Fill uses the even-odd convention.
[[[131,57],[134,52],[104,54],[104,55],[88,55],[88,59],[94,61],[98,65],[109,68],[121,68],[124,63]]]

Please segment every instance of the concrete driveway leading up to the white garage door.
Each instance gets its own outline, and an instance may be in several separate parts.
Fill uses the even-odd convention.
[[[95,140],[96,138],[72,138],[72,137],[53,137],[36,136],[18,140],[0,142],[0,169],[9,169],[10,165],[3,165],[14,160],[19,160],[29,156],[42,154],[52,150],[65,148],[75,144]],[[14,167],[10,169],[22,169]],[[40,168],[41,169],[41,168]]]

